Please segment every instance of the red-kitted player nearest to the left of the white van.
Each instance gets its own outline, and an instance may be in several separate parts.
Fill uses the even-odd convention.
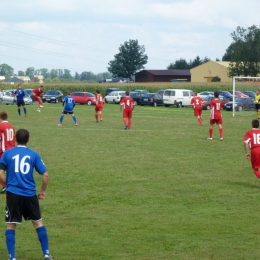
[[[125,92],[125,97],[120,101],[120,111],[124,108],[123,120],[125,124],[125,130],[131,129],[132,127],[132,112],[134,110],[135,102],[129,97],[129,91]]]

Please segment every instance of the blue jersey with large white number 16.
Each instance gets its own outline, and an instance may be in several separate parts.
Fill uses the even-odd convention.
[[[39,174],[47,171],[40,155],[26,146],[5,151],[0,163],[6,166],[6,191],[26,197],[36,194],[34,169]]]

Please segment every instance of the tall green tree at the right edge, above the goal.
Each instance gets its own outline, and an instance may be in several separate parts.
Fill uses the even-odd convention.
[[[257,76],[260,73],[260,28],[237,27],[231,33],[229,76]]]

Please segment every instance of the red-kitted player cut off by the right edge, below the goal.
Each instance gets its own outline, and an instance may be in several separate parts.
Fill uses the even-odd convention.
[[[260,130],[259,121],[257,119],[252,120],[252,129],[246,132],[244,139],[244,148],[246,152],[246,158],[251,159],[251,165],[254,174],[257,178],[260,178]],[[251,156],[249,150],[251,149]]]

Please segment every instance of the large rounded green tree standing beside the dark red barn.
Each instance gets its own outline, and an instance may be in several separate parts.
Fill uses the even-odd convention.
[[[144,69],[147,61],[145,47],[139,45],[138,40],[129,40],[120,45],[119,53],[108,63],[108,71],[114,77],[131,78],[137,71]]]

